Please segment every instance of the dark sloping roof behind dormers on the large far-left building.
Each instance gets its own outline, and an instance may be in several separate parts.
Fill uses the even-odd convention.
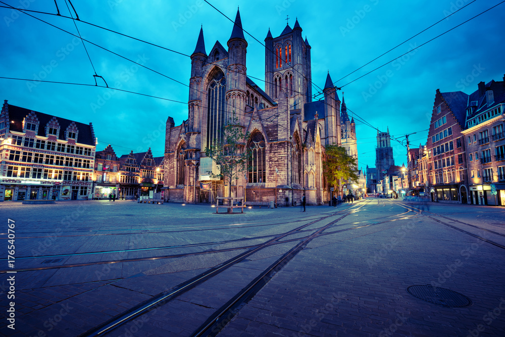
[[[28,116],[32,110],[17,107],[12,104],[7,104],[9,108],[9,119],[10,119],[10,127],[9,130],[11,131],[17,131],[17,132],[23,132],[23,119]],[[70,119],[65,119],[61,117],[57,117],[54,115],[48,115],[44,114],[41,112],[33,111],[38,118],[39,121],[39,127],[38,127],[38,132],[37,135],[41,137],[45,137],[45,126],[46,124],[53,118],[55,117],[58,120],[58,123],[60,124],[60,134],[58,135],[58,139],[60,140],[67,140],[65,139],[65,130],[67,130],[67,127],[72,124],[72,122],[77,125],[77,129],[79,132],[77,133],[77,143],[85,144],[85,145],[92,145],[95,146],[95,139],[93,137],[92,129],[90,124],[84,124],[84,123],[79,123],[75,121],[71,121]],[[14,123],[12,123],[14,121]]]

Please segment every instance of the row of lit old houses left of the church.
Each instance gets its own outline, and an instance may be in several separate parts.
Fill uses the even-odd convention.
[[[0,113],[0,201],[131,199],[163,188],[163,157],[96,151],[83,124],[4,102]]]

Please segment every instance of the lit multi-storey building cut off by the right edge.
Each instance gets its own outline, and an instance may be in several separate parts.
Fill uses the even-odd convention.
[[[474,205],[505,206],[504,111],[505,76],[502,81],[480,82],[468,97],[462,142],[468,160],[469,202]]]

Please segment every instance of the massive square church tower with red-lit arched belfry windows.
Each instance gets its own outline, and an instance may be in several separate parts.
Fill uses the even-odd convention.
[[[292,29],[286,25],[276,38],[269,29],[265,38],[265,91],[276,102],[285,92],[290,110],[312,102],[310,45],[301,32],[296,20]]]

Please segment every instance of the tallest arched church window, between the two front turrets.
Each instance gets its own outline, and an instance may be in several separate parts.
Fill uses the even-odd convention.
[[[225,125],[226,115],[226,78],[222,71],[214,72],[209,83],[207,104],[207,148],[214,145],[215,140],[223,137],[221,132]]]

